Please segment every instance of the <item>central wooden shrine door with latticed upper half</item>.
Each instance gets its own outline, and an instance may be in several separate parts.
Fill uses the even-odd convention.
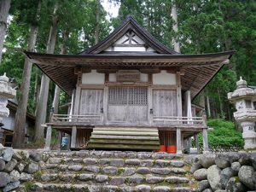
[[[109,87],[108,122],[144,125],[148,121],[147,87]]]

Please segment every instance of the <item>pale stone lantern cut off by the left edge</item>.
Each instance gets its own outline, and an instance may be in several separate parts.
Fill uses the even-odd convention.
[[[16,90],[8,84],[9,78],[6,77],[6,73],[0,76],[0,126],[2,120],[9,116],[9,108],[6,108],[8,104],[8,99],[13,99],[16,96]]]

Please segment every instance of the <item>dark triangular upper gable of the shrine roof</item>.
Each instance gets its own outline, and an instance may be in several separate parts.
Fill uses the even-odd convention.
[[[79,53],[79,55],[87,54],[100,54],[104,49],[107,49],[109,46],[113,45],[119,38],[125,36],[127,32],[134,32],[139,38],[142,38],[146,43],[145,46],[150,46],[155,49],[159,54],[167,55],[179,55],[176,51],[169,49],[166,45],[160,43],[155,39],[149,32],[147,32],[142,26],[137,23],[131,15],[126,17],[126,20],[118,26],[112,33],[108,35],[107,38],[104,38],[102,42],[94,45],[90,49],[84,50]]]

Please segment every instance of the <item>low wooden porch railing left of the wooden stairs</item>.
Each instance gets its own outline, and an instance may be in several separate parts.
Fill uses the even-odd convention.
[[[102,115],[94,114],[53,114],[51,122],[88,122],[99,121],[102,119]]]

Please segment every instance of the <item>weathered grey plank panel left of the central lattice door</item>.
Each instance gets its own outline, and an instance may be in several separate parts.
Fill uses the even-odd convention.
[[[102,108],[103,90],[81,90],[79,114],[88,115],[88,119],[102,120]]]

